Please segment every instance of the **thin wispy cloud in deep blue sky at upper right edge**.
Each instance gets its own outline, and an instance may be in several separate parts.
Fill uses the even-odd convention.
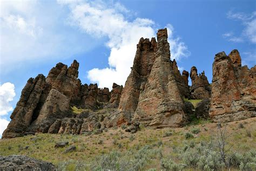
[[[248,40],[251,43],[256,43],[256,11],[250,14],[228,11],[227,18],[241,22],[244,29],[239,36],[235,36],[233,32],[224,33],[224,38],[235,43],[241,43],[244,42],[244,40]]]

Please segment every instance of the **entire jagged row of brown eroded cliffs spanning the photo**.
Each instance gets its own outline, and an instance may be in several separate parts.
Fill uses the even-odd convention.
[[[79,63],[58,63],[48,76],[30,78],[11,114],[2,138],[26,134],[84,134],[104,128],[139,124],[154,128],[180,127],[197,117],[227,122],[256,115],[256,66],[241,66],[237,50],[215,55],[212,85],[192,67],[180,74],[170,59],[167,29],[156,38],[141,38],[125,86],[112,90],[82,84]],[[188,76],[192,86],[188,86]],[[196,110],[184,99],[204,99]],[[210,108],[210,109],[209,109]]]

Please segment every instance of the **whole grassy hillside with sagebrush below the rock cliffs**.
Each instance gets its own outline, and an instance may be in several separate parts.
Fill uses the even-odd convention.
[[[219,163],[220,155],[217,154],[219,149],[215,149],[218,146],[216,141],[217,124],[204,120],[197,120],[194,123],[190,126],[173,129],[151,129],[140,125],[140,131],[134,134],[125,132],[122,128],[105,129],[103,133],[92,132],[90,135],[39,133],[0,140],[0,155],[31,156],[52,162],[59,170],[96,169],[93,166],[100,167],[96,159],[99,163],[103,161],[102,154],[112,156],[112,161],[116,161],[116,163],[129,163],[127,167],[134,166],[141,170],[164,168],[177,170],[176,167],[185,170],[198,170],[202,167],[225,168],[223,164]],[[221,129],[227,128],[227,135],[231,134],[227,139],[228,143],[225,149],[232,146],[227,152],[227,159],[235,154],[230,166],[232,170],[239,169],[239,167],[242,170],[256,169],[256,118],[221,125]],[[189,137],[190,135],[192,136]],[[212,149],[214,149],[212,151],[209,145],[211,140],[213,140]],[[60,141],[68,141],[69,145],[55,148],[56,142]],[[75,146],[76,150],[64,153],[69,146]],[[204,151],[209,151],[211,154],[207,155]],[[112,152],[111,155],[109,152]],[[209,157],[211,155],[214,158]],[[207,161],[207,163],[203,163],[203,161]],[[244,163],[242,164],[242,162]],[[245,162],[251,164],[246,165]],[[108,167],[106,163],[102,164],[105,168]],[[115,167],[117,168],[118,165]],[[251,169],[248,169],[249,167]],[[127,168],[125,167],[124,170]]]

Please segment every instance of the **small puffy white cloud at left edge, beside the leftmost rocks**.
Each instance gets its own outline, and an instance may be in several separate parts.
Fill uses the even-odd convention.
[[[10,101],[15,97],[15,86],[11,83],[0,84],[0,115],[8,114],[13,108]]]

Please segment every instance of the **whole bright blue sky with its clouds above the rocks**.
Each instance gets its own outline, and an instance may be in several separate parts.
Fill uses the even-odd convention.
[[[140,37],[167,27],[171,58],[212,79],[214,54],[256,63],[255,1],[0,1],[0,136],[26,81],[58,62],[80,63],[82,83],[125,83]]]

